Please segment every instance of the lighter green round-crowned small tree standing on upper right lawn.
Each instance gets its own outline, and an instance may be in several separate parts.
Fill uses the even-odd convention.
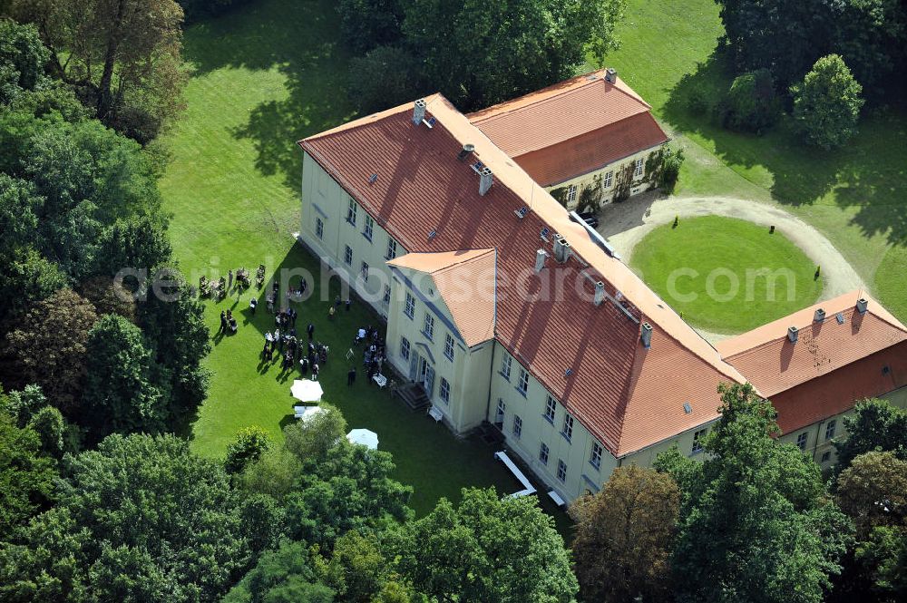
[[[839,55],[816,61],[803,82],[791,86],[794,118],[806,139],[825,150],[848,141],[856,132],[862,92]]]

